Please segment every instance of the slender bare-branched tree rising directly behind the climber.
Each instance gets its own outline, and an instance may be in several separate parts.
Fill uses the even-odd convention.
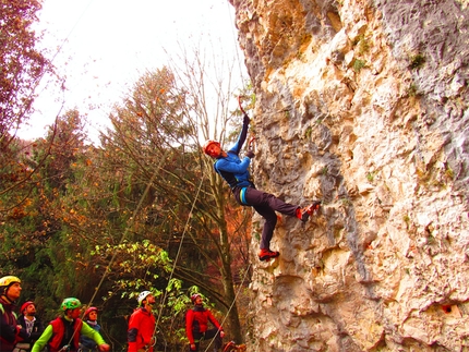
[[[216,47],[221,48],[221,45],[217,44]],[[216,53],[213,58],[208,58],[206,52],[199,49],[193,49],[191,52],[184,49],[182,56],[171,62],[172,72],[178,74],[178,83],[181,84],[184,92],[188,92],[188,106],[191,107],[194,124],[199,126],[199,137],[203,141],[217,139],[221,144],[228,143],[230,136],[237,135],[236,132],[230,134],[229,132],[232,131],[229,129],[232,125],[239,129],[239,117],[241,116],[239,110],[231,112],[234,109],[230,109],[230,102],[234,100],[233,73],[237,72],[237,61],[226,61]],[[238,205],[233,202],[230,191],[225,186],[221,178],[213,172],[213,161],[201,156],[201,153],[199,156],[204,177],[208,182],[202,197],[205,205],[199,208],[202,210],[200,221],[207,223],[207,232],[218,243],[220,280],[224,287],[221,301],[227,305],[227,308],[230,307],[228,317],[231,329],[234,332],[234,339],[241,341],[242,331],[233,284],[233,257],[231,255],[233,248],[230,236],[230,232],[232,233],[233,230],[232,224],[236,221],[230,223],[229,219],[238,219],[234,214],[241,215],[241,219],[251,217],[251,209],[232,211],[233,207],[238,207]],[[241,220],[239,223],[246,224],[246,221]],[[244,228],[244,233],[246,233],[246,229],[248,226]],[[242,269],[246,269],[248,260],[241,265]],[[238,268],[240,267],[238,266]]]

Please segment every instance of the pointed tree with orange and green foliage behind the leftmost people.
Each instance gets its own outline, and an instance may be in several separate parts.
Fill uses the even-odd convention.
[[[69,111],[51,126],[46,138],[35,141],[28,155],[14,160],[31,174],[5,198],[13,206],[4,211],[0,227],[0,267],[22,277],[25,294],[39,302],[56,302],[51,306],[75,288],[80,290],[70,260],[80,252],[80,242],[70,235],[63,205],[68,184],[75,182],[74,165],[85,150],[80,114]]]

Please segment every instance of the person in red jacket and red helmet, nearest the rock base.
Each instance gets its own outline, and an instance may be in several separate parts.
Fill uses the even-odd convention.
[[[202,296],[196,293],[191,296],[194,307],[185,315],[185,333],[188,335],[190,351],[199,351],[199,343],[202,339],[214,339],[214,351],[221,348],[221,339],[225,336],[224,329],[214,315],[204,307]],[[208,329],[208,321],[216,328]]]

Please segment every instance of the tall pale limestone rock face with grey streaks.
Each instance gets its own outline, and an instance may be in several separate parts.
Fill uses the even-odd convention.
[[[255,183],[323,201],[253,236],[249,351],[468,351],[468,1],[230,2]]]

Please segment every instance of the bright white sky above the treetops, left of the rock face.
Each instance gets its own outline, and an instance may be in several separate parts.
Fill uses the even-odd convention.
[[[53,58],[67,89],[41,80],[36,111],[19,133],[23,138],[45,136],[56,116],[73,108],[87,116],[88,134],[96,138],[111,106],[143,73],[167,62],[165,50],[180,52],[181,45],[211,38],[244,62],[228,0],[44,0],[37,14],[38,45]]]

